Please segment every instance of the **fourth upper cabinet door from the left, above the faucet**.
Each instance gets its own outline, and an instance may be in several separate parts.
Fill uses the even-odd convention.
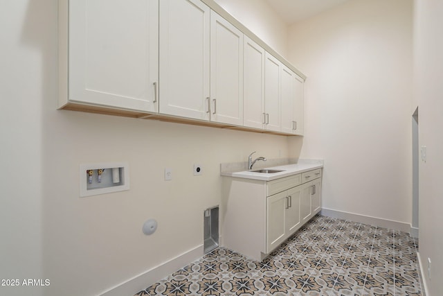
[[[244,36],[243,124],[264,128],[264,49]]]

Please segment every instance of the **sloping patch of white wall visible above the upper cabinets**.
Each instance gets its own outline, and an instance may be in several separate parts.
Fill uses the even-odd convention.
[[[288,27],[265,0],[215,0],[215,2],[287,58]]]

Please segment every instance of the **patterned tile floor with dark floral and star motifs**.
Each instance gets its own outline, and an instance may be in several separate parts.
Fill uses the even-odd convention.
[[[136,295],[422,295],[409,234],[315,216],[262,262],[219,247]]]

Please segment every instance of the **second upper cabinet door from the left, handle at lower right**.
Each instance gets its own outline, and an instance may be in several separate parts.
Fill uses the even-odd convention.
[[[209,120],[210,9],[199,0],[160,1],[160,110]]]

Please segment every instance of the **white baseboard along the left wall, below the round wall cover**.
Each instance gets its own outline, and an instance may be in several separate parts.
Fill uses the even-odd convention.
[[[146,272],[136,275],[132,279],[118,284],[114,288],[111,288],[101,296],[121,296],[121,295],[134,295],[135,293],[144,290],[148,286],[160,281],[164,277],[172,274],[173,272],[183,268],[192,261],[196,261],[204,254],[204,246],[199,245],[192,250],[184,252],[183,254],[162,263]]]

